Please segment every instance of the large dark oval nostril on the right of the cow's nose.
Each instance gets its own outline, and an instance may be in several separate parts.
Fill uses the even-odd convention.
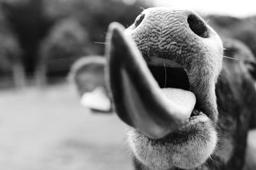
[[[202,38],[209,38],[209,31],[205,23],[195,15],[188,16],[188,24],[191,29],[196,35]]]

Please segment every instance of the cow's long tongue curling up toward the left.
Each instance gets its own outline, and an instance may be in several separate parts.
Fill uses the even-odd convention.
[[[124,27],[109,26],[106,77],[116,113],[148,138],[163,138],[190,117],[195,95],[182,89],[160,89]]]

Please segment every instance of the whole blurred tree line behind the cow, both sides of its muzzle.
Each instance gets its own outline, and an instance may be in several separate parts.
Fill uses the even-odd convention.
[[[125,4],[124,1],[131,4]],[[134,2],[134,3],[133,3]],[[104,54],[110,22],[134,22],[146,0],[0,0],[0,72],[22,60],[26,72],[66,76],[74,60]],[[222,37],[237,38],[256,55],[256,17],[205,17]],[[44,74],[38,74],[43,76]]]

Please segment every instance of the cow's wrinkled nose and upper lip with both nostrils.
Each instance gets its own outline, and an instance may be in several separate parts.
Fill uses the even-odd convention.
[[[216,122],[214,83],[221,70],[223,48],[218,34],[199,15],[189,10],[148,8],[125,34],[136,42],[148,65],[170,59],[183,66],[200,110]]]

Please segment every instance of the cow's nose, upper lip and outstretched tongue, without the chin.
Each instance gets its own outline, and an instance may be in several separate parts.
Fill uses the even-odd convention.
[[[149,8],[125,31],[112,23],[106,40],[106,77],[116,113],[153,139],[182,127],[195,104],[216,122],[214,83],[221,70],[222,50],[219,36],[192,11]],[[179,70],[176,77],[182,75],[188,85],[182,81],[166,86],[176,81],[172,76],[161,85],[155,66]]]

